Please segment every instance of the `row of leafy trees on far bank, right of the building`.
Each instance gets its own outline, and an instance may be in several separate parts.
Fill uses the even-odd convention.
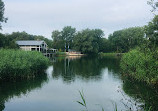
[[[145,39],[144,34],[144,27],[132,27],[115,31],[108,38],[104,38],[104,32],[101,29],[84,29],[77,32],[75,28],[66,26],[62,31],[53,31],[52,39],[54,47],[61,50],[66,46],[88,54],[124,53],[141,45]]]

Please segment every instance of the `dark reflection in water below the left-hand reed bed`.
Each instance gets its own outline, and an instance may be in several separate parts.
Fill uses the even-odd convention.
[[[8,100],[26,95],[34,89],[40,89],[47,80],[47,75],[43,74],[29,80],[0,81],[0,111],[4,110],[4,104]]]

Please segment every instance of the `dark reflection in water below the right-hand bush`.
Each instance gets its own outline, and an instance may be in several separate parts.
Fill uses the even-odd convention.
[[[151,107],[152,111],[158,111],[157,89],[133,79],[124,78],[123,90],[128,96],[135,99],[135,104],[143,102],[144,104],[140,107],[145,107],[146,109]]]

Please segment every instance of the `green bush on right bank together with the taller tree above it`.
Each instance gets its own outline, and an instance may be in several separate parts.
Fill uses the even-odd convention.
[[[121,68],[127,74],[148,84],[158,84],[158,15],[145,26],[146,38],[139,48],[125,54]]]

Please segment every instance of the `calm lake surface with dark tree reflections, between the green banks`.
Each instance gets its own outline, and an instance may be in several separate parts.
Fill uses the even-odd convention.
[[[158,106],[155,92],[147,86],[122,79],[119,59],[69,57],[52,59],[46,74],[33,80],[0,83],[0,110],[82,111],[83,90],[89,111],[137,110]]]

